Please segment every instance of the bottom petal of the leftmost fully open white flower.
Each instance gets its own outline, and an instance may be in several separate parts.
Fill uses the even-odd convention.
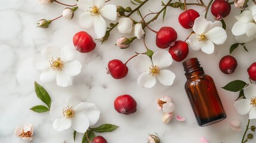
[[[73,78],[70,76],[67,76],[63,71],[57,71],[57,85],[66,87],[73,85]]]

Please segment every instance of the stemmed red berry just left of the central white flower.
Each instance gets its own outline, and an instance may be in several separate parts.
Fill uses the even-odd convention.
[[[107,73],[110,73],[114,79],[122,79],[123,77],[127,76],[128,67],[120,60],[115,59],[109,61],[107,67]]]

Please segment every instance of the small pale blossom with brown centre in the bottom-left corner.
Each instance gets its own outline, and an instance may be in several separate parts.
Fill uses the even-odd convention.
[[[33,139],[33,126],[30,124],[26,124],[24,127],[17,126],[14,135],[20,137],[23,141],[30,142]]]

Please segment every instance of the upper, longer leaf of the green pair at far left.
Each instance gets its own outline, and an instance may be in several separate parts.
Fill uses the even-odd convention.
[[[45,104],[47,104],[48,108],[50,108],[51,97],[49,96],[47,91],[45,91],[45,89],[41,85],[39,85],[37,82],[35,82],[35,92],[38,98],[42,100]]]

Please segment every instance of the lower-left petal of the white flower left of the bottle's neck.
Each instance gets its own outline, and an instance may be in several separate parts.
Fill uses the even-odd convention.
[[[144,88],[152,88],[156,84],[156,77],[149,74],[149,72],[141,73],[138,76],[138,85]]]

